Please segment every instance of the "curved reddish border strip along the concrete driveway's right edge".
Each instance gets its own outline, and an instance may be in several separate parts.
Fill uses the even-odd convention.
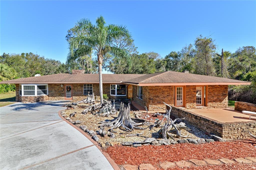
[[[68,120],[66,120],[63,116],[61,116],[61,111],[65,111],[65,110],[60,110],[58,112],[59,117],[61,117],[65,122],[67,122],[69,125],[71,125],[72,127],[74,127],[75,129],[77,129],[79,132],[81,132],[86,138],[88,138],[100,151],[101,153],[106,157],[106,159],[109,161],[110,165],[115,169],[115,170],[120,170],[119,166],[114,162],[113,159],[111,159],[111,157],[109,156],[108,153],[104,152],[101,147],[99,146],[99,143],[97,143],[96,141],[94,141],[86,132],[84,132],[83,130],[81,130],[79,127],[73,125],[71,122],[69,122]]]

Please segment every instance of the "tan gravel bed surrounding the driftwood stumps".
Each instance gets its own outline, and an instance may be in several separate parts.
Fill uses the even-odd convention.
[[[89,106],[88,104],[80,104],[80,105],[83,105],[83,106]],[[113,119],[114,116],[117,116],[118,113],[116,115],[114,115],[113,117],[112,116],[109,116],[109,117],[100,117],[100,116],[96,116],[96,115],[93,115],[91,114],[91,112],[88,112],[88,114],[82,114],[82,111],[84,110],[84,108],[76,108],[76,109],[70,109],[70,110],[65,110],[64,113],[62,114],[65,114],[65,118],[68,117],[71,113],[73,112],[77,112],[77,115],[76,117],[71,117],[71,119],[73,121],[76,121],[76,120],[80,120],[81,124],[79,125],[86,125],[88,127],[89,130],[93,130],[93,131],[98,131],[100,129],[100,124],[99,122],[101,121],[104,121],[106,119]],[[135,118],[135,114],[134,112],[130,112],[130,115],[131,115],[131,118]],[[155,119],[163,119],[163,116],[161,117],[152,117],[153,114],[149,114],[150,117],[147,117],[145,118],[145,115],[146,113],[143,113],[141,115],[141,117],[143,119],[147,119],[147,120],[155,120]],[[163,121],[164,122],[164,121]],[[162,123],[164,124],[164,123]],[[153,125],[153,123],[152,123]],[[199,138],[203,138],[203,139],[210,139],[210,137],[208,135],[206,135],[203,131],[201,131],[200,129],[194,127],[194,126],[191,126],[189,124],[186,124],[186,126],[188,128],[190,128],[191,130],[190,131],[187,131],[187,130],[184,130],[182,129],[181,130],[181,134],[183,136],[187,136],[186,138],[175,138],[176,136],[176,131],[175,130],[171,130],[170,131],[170,134],[173,134],[173,137],[175,138],[175,140],[178,140],[178,139],[188,139],[188,138],[191,138],[191,139],[199,139]],[[98,137],[100,138],[100,140],[102,140],[104,143],[105,142],[125,142],[125,141],[131,141],[131,142],[135,142],[135,141],[144,141],[145,138],[156,138],[156,139],[160,139],[159,136],[158,136],[158,130],[160,128],[148,128],[149,126],[148,125],[141,125],[140,127],[144,127],[146,128],[145,130],[138,130],[138,129],[134,129],[132,132],[130,131],[125,131],[125,129],[119,127],[119,128],[116,128],[115,131],[117,131],[117,133],[115,133],[115,138],[110,138],[110,137],[101,137],[100,135],[98,135]],[[105,130],[110,130],[109,127],[105,127]],[[134,134],[134,133],[142,133],[142,135],[139,135],[139,136],[133,136],[133,137],[127,137],[127,135],[129,134]]]

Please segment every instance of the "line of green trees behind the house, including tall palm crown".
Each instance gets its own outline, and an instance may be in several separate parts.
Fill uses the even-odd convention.
[[[228,49],[219,51],[210,36],[199,35],[180,51],[171,51],[164,57],[156,52],[139,54],[126,27],[105,25],[102,16],[96,19],[96,25],[81,19],[68,30],[66,40],[69,43],[66,63],[33,53],[4,53],[0,56],[0,81],[35,74],[70,73],[72,69],[85,69],[88,74],[98,74],[99,70],[101,73],[102,69],[114,74],[188,70],[193,74],[251,81],[248,86],[229,86],[229,99],[256,102],[254,46],[239,47],[233,53]],[[4,89],[8,91],[7,87]]]

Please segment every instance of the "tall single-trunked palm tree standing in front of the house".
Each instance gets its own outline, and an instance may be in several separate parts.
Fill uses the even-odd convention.
[[[106,25],[105,19],[100,16],[93,25],[88,19],[81,19],[73,28],[76,35],[70,37],[69,51],[71,56],[84,56],[90,54],[91,49],[97,54],[99,64],[100,102],[103,103],[102,92],[102,62],[106,54],[126,59],[131,69],[131,57],[126,49],[115,47],[112,42],[120,37],[131,39],[126,27]]]

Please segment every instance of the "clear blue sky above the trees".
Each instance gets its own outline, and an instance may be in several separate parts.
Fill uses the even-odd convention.
[[[221,48],[256,46],[256,1],[1,1],[1,55],[37,53],[66,61],[67,30],[102,15],[125,25],[140,53],[162,57],[202,34]]]

